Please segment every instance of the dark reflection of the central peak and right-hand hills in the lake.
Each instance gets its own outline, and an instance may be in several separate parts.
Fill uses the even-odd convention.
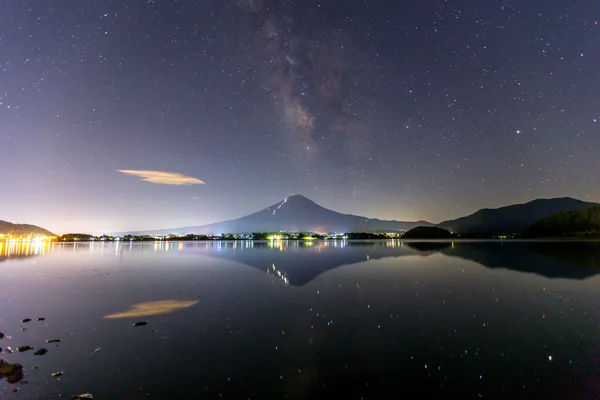
[[[221,242],[200,246],[212,257],[265,270],[276,265],[286,282],[302,286],[332,269],[388,257],[441,253],[488,268],[534,273],[546,278],[585,279],[600,273],[598,242],[337,241]],[[195,247],[184,247],[191,250]],[[253,251],[244,249],[252,248]],[[299,249],[302,248],[302,251]],[[305,249],[306,248],[306,249]],[[344,251],[336,251],[344,249]],[[259,250],[259,251],[256,251]],[[285,250],[285,251],[284,251]],[[289,252],[294,256],[290,257]]]

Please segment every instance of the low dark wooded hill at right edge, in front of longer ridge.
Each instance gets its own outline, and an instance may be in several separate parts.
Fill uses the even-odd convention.
[[[525,237],[598,237],[600,207],[566,211],[545,217],[523,232]]]

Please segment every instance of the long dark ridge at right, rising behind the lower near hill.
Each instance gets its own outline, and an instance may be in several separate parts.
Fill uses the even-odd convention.
[[[570,197],[537,199],[525,204],[496,209],[484,208],[466,217],[444,221],[437,226],[461,234],[511,234],[522,232],[534,222],[552,214],[598,205],[598,203],[588,203]]]

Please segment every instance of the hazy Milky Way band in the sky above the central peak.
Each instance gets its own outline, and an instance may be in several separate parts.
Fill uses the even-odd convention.
[[[267,6],[241,0],[238,5],[247,13],[253,61],[282,115],[292,151],[325,163],[330,151],[340,148],[351,157],[362,155],[368,137],[360,134],[365,128],[359,125],[359,111],[367,99],[357,93],[360,74],[350,79],[348,64],[360,57],[353,54],[344,30],[314,24],[318,15],[309,23],[293,17],[289,1]],[[366,61],[361,62],[366,69]]]

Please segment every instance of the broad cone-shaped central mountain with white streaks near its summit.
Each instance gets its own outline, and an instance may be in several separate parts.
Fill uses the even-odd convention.
[[[301,195],[287,197],[264,210],[231,221],[185,228],[162,229],[154,234],[221,234],[252,232],[398,232],[419,225],[431,226],[427,221],[385,221],[350,214],[341,214],[321,207]],[[136,234],[150,232],[135,232]]]

